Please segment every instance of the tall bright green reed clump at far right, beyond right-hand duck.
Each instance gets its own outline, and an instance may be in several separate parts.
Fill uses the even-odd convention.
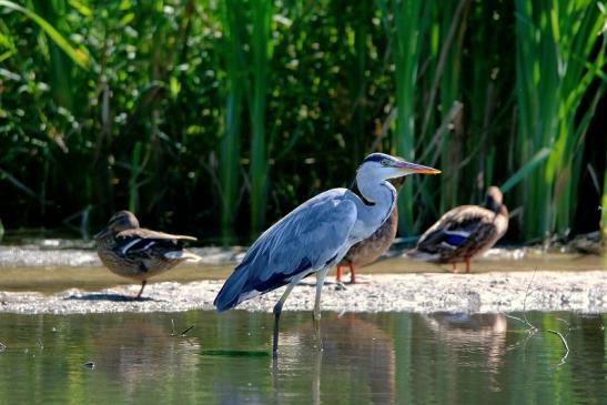
[[[590,88],[604,67],[605,47],[591,54],[604,23],[594,1],[516,1],[518,163],[550,150],[518,194],[527,240],[570,227],[588,123],[576,119],[584,97],[604,92],[604,87]],[[591,117],[593,109],[585,114]]]

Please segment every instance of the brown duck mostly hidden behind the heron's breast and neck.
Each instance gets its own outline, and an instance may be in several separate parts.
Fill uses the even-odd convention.
[[[406,178],[391,179],[388,180],[392,185],[396,189],[398,193],[405,183]],[[337,264],[337,283],[342,282],[342,267],[350,267],[350,283],[356,283],[356,267],[362,267],[367,264],[371,264],[377,260],[382,254],[384,254],[394,237],[396,236],[396,230],[398,227],[398,207],[394,205],[394,210],[387,217],[386,222],[373,235],[356,243],[354,246],[347,251],[346,255],[340,264]]]

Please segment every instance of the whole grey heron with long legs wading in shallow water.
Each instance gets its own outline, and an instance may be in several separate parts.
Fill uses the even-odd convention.
[[[355,243],[371,236],[391,215],[396,190],[390,179],[407,174],[437,174],[439,170],[372,153],[358,166],[355,184],[327,190],[297,206],[266,230],[249,249],[215,297],[217,311],[226,311],[256,295],[286,285],[274,305],[272,352],[279,350],[279,324],[284,302],[304,277],[316,273],[313,322],[320,335],[321,290],[327,271]]]

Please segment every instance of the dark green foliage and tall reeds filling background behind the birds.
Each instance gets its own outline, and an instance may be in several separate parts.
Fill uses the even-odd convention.
[[[0,217],[246,243],[365,154],[434,165],[401,235],[502,185],[508,237],[607,230],[591,0],[0,0]],[[603,217],[601,217],[603,216]]]

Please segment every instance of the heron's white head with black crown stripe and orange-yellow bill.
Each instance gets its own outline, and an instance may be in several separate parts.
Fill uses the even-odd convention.
[[[439,170],[411,163],[403,158],[385,153],[372,153],[358,168],[358,174],[371,175],[377,180],[403,178],[408,174],[438,174]]]

